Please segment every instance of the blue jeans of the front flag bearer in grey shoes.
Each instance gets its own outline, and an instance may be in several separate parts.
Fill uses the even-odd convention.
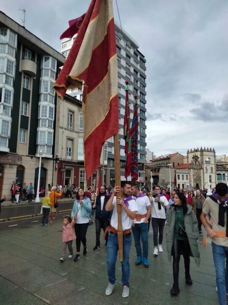
[[[131,234],[123,235],[123,262],[122,266],[122,279],[123,285],[129,287],[130,278],[130,264],[129,264],[129,252],[131,247]],[[107,269],[109,283],[114,285],[116,282],[116,257],[119,250],[117,235],[110,232],[107,243]]]

